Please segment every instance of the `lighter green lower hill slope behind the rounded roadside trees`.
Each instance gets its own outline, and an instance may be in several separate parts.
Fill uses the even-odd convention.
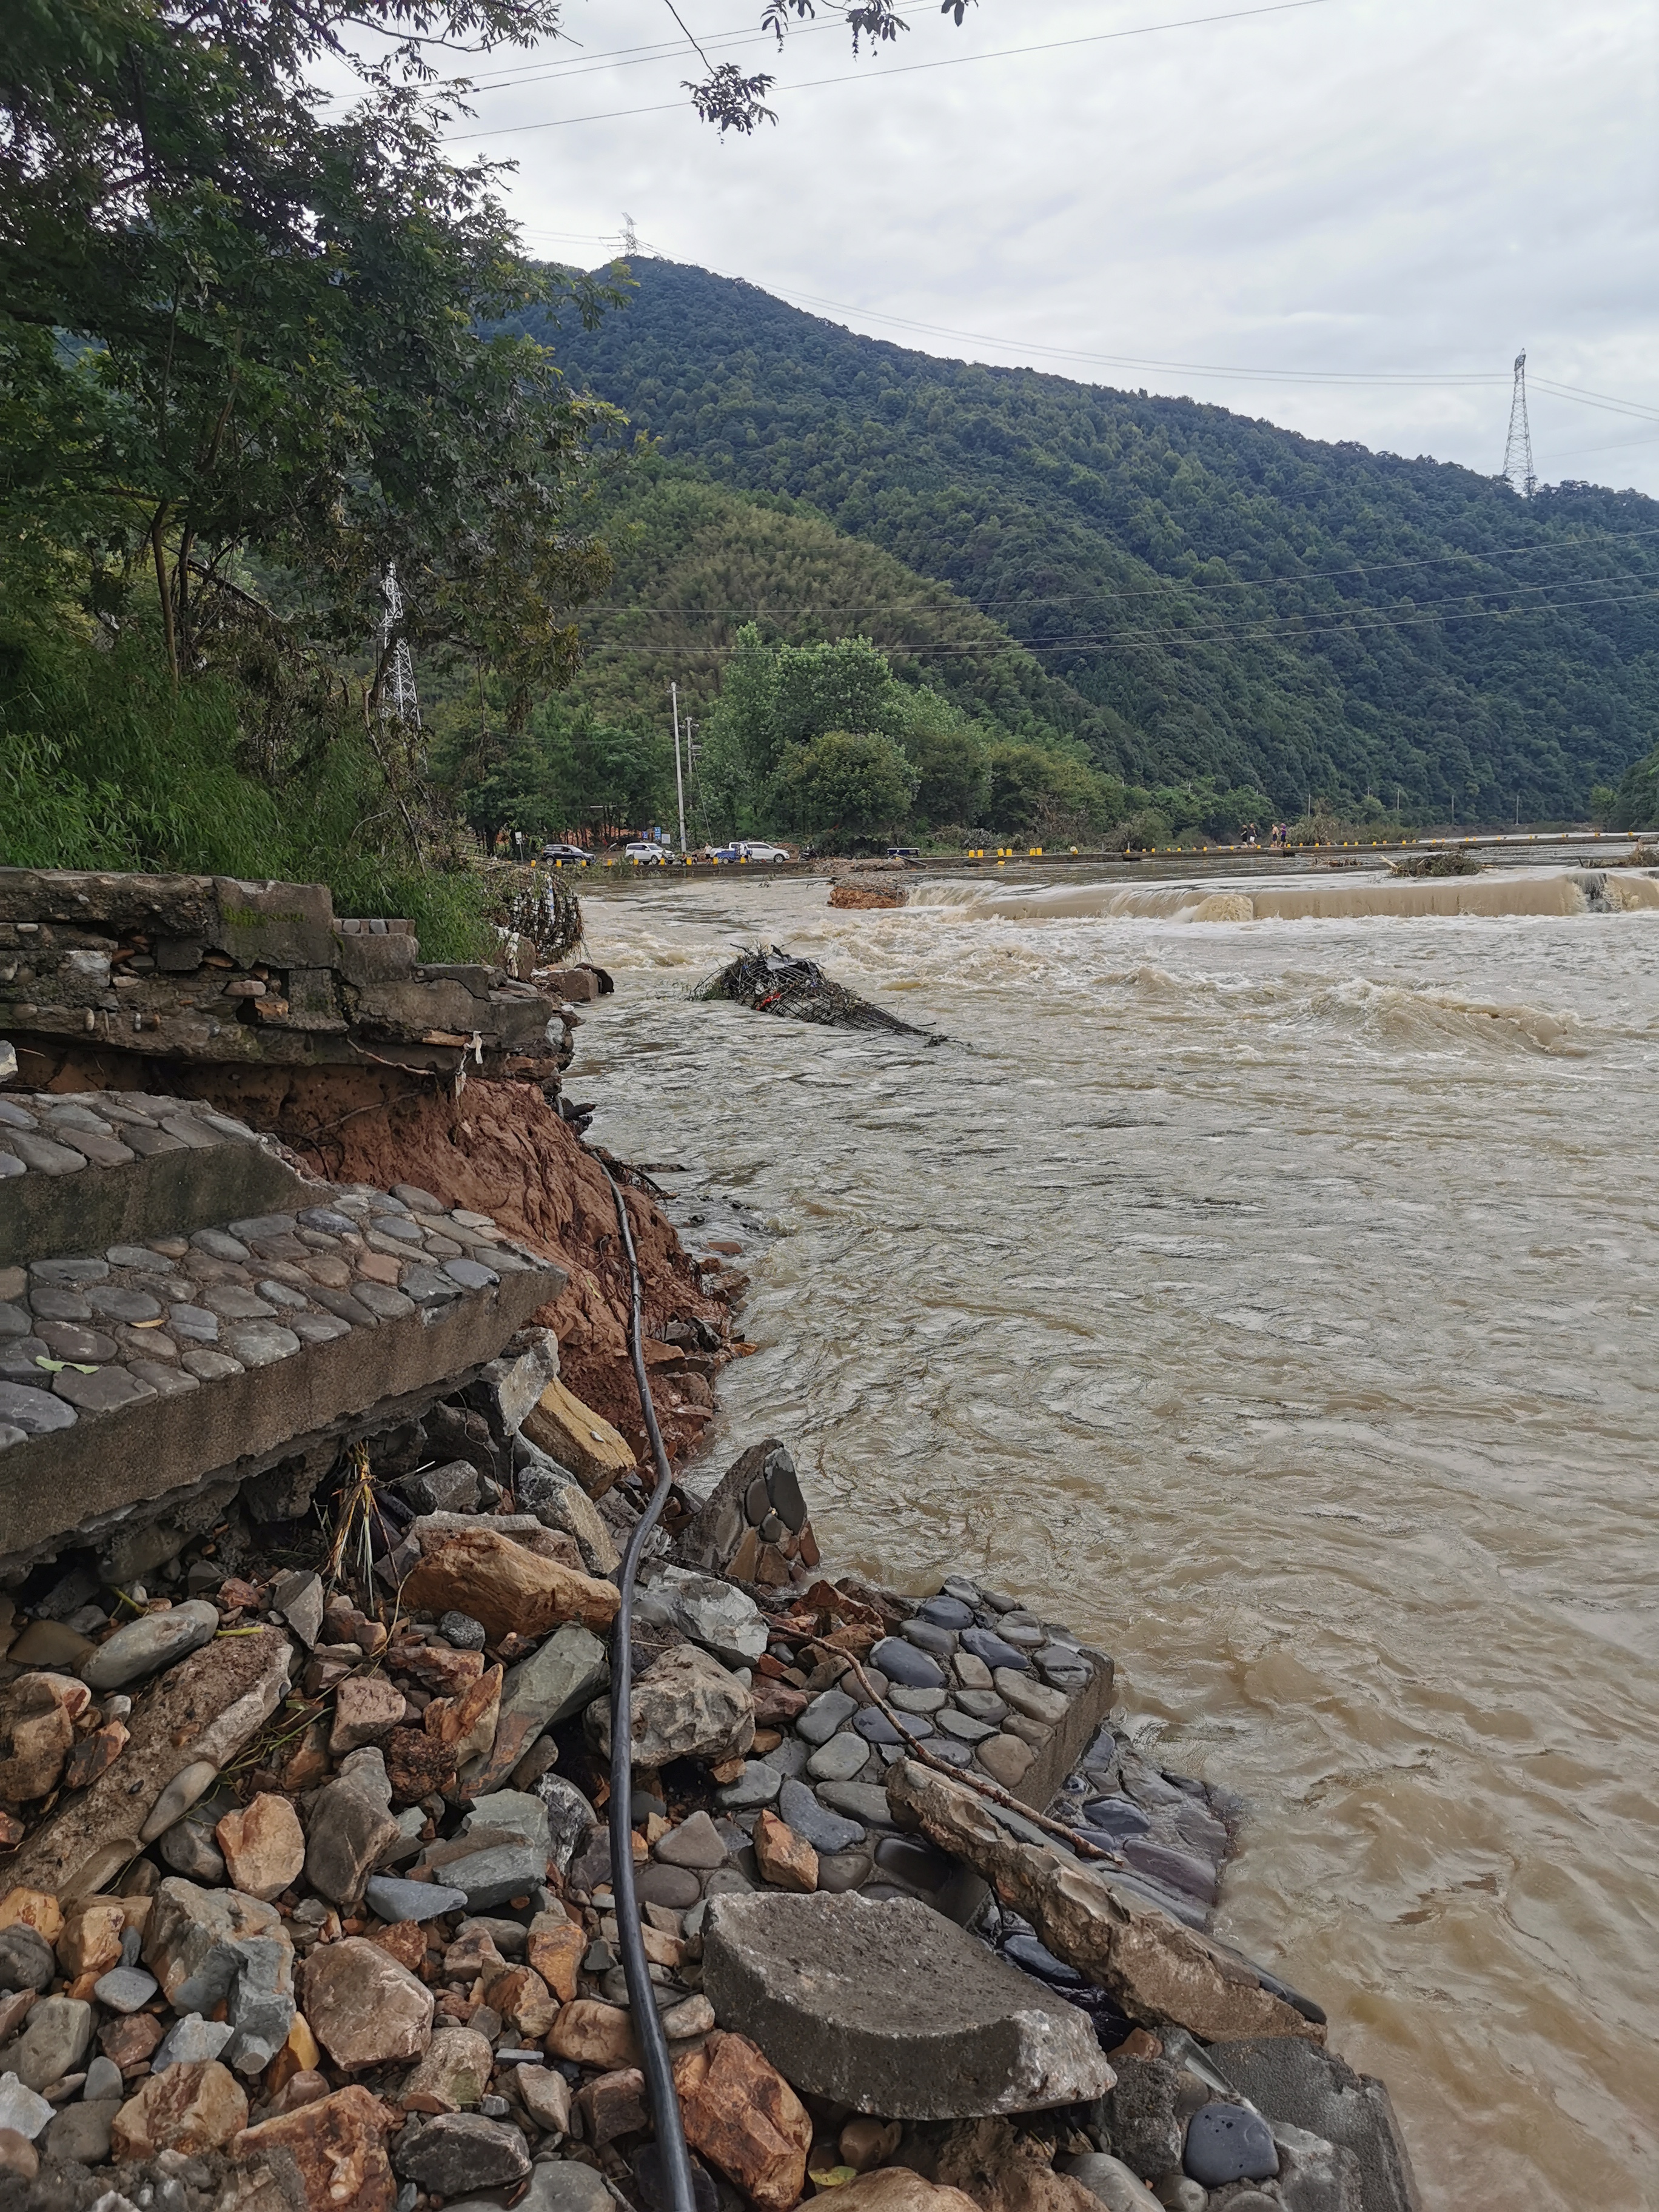
[[[679,686],[681,719],[697,723],[706,761],[688,796],[695,836],[787,827],[787,807],[763,790],[768,774],[757,763],[737,779],[741,790],[714,765],[726,679],[743,637],[750,650],[759,644],[757,630],[770,648],[874,641],[898,686],[880,721],[922,768],[929,757],[938,768],[940,730],[971,732],[947,752],[967,743],[982,754],[989,787],[973,801],[958,792],[953,805],[938,779],[925,776],[920,810],[905,816],[914,830],[967,827],[969,812],[984,823],[993,796],[1009,832],[1042,821],[1053,830],[1079,807],[1097,830],[1161,810],[1166,834],[1267,810],[1259,792],[1208,785],[1157,794],[1088,774],[1079,785],[1075,770],[1088,768],[1102,737],[1128,739],[1124,726],[1048,675],[949,584],[916,575],[796,500],[714,484],[684,462],[644,456],[613,478],[586,520],[611,551],[613,580],[604,599],[580,613],[584,653],[568,686],[540,692],[513,728],[500,684],[480,686],[465,664],[422,672],[440,783],[484,836],[502,825],[586,834],[672,821],[670,684]],[[745,624],[757,630],[745,633]]]

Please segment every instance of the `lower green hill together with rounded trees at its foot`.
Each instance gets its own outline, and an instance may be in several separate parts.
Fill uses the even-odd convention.
[[[487,841],[509,825],[591,834],[672,823],[675,681],[688,754],[695,741],[695,843],[989,825],[1042,838],[1133,825],[1166,841],[1179,830],[1232,836],[1270,812],[1259,790],[1197,779],[1155,792],[1102,774],[1077,734],[1086,708],[1002,624],[801,502],[646,456],[611,487],[593,526],[613,557],[611,588],[582,613],[575,679],[542,692],[522,732],[509,728],[500,686],[460,675],[425,686],[438,770]],[[865,745],[847,783],[852,757],[830,748],[825,783],[814,761],[783,750],[836,730],[885,739],[905,761]]]

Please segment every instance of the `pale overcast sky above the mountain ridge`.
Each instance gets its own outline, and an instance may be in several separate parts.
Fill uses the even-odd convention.
[[[779,77],[776,128],[721,142],[677,104],[701,71],[664,0],[568,0],[568,42],[478,69],[453,150],[518,161],[549,257],[602,259],[626,210],[644,248],[922,352],[1493,473],[1524,345],[1540,478],[1659,493],[1655,0],[1239,9],[980,0],[958,31],[927,0],[854,64],[841,29],[714,46],[761,0],[679,0]],[[1099,35],[1194,15],[1232,20]]]

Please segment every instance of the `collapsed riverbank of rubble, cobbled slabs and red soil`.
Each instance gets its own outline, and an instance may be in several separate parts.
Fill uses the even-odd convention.
[[[113,962],[97,927],[69,953],[58,920],[9,927],[49,1062],[64,993]],[[403,958],[416,991],[493,998]],[[223,998],[234,956],[197,964]],[[257,980],[281,1022],[301,984]],[[692,1259],[648,1190],[624,1201],[553,1079],[416,1066],[325,1121],[341,1068],[389,1066],[327,1015],[334,1073],[301,1046],[248,1086],[285,1152],[100,1091],[124,1046],[97,1006],[53,1088],[0,1099],[27,1537],[0,1601],[0,2203],[659,2212],[599,1818],[646,1478],[571,1378],[624,1413],[639,1298],[684,1453],[734,1243]],[[197,1042],[177,1075],[234,1086],[246,1042]],[[122,1486],[142,1438],[161,1464]],[[88,1484],[102,1520],[73,1526]],[[635,1610],[646,1986],[703,2181],[759,2212],[1411,2212],[1387,2093],[1210,1938],[1237,1801],[1144,1756],[1113,1659],[989,1577],[836,1577],[810,1489],[776,1438],[677,1489]]]

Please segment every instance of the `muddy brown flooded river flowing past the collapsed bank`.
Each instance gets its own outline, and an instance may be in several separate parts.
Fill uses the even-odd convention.
[[[599,891],[571,1079],[743,1243],[710,1467],[776,1431],[834,1562],[1117,1655],[1431,2212],[1659,2205],[1659,885],[1557,876]],[[743,942],[949,1042],[692,1002]]]

